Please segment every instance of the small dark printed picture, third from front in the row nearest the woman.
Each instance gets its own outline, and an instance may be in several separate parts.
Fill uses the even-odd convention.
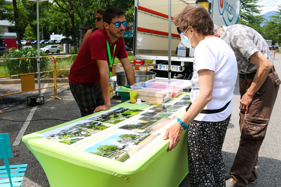
[[[177,115],[181,110],[183,110],[183,108],[183,106],[176,105],[158,105],[151,108],[147,108],[146,112],[143,115],[172,118]]]

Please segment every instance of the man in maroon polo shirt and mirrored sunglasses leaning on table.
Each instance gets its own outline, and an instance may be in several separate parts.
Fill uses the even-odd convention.
[[[104,11],[102,18],[104,28],[87,37],[68,77],[71,93],[82,117],[110,108],[109,58],[117,57],[120,60],[129,85],[135,82],[135,72],[128,59],[123,39],[125,13],[120,8],[111,7]],[[107,41],[111,57],[108,55]],[[99,106],[101,93],[104,105]]]

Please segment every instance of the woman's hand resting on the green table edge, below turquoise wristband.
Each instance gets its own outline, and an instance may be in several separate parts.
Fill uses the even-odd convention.
[[[177,122],[176,124],[172,125],[171,127],[169,127],[166,130],[166,133],[163,137],[164,140],[166,140],[169,136],[169,148],[168,151],[172,150],[173,148],[175,148],[180,139],[181,139],[181,133],[184,130],[184,127],[181,126],[181,124],[179,124],[179,122]]]

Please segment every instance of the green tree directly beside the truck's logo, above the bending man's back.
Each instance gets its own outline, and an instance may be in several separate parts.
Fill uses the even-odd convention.
[[[260,26],[264,20],[263,16],[260,15],[263,6],[258,5],[258,2],[260,2],[260,0],[240,1],[239,24],[246,25],[259,33],[263,33],[263,29]]]

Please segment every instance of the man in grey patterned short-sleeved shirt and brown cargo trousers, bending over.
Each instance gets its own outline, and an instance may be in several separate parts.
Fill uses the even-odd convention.
[[[239,148],[226,186],[242,187],[258,177],[255,166],[270,115],[279,90],[280,79],[266,41],[245,25],[218,27],[215,35],[234,51],[239,73],[240,132]]]

